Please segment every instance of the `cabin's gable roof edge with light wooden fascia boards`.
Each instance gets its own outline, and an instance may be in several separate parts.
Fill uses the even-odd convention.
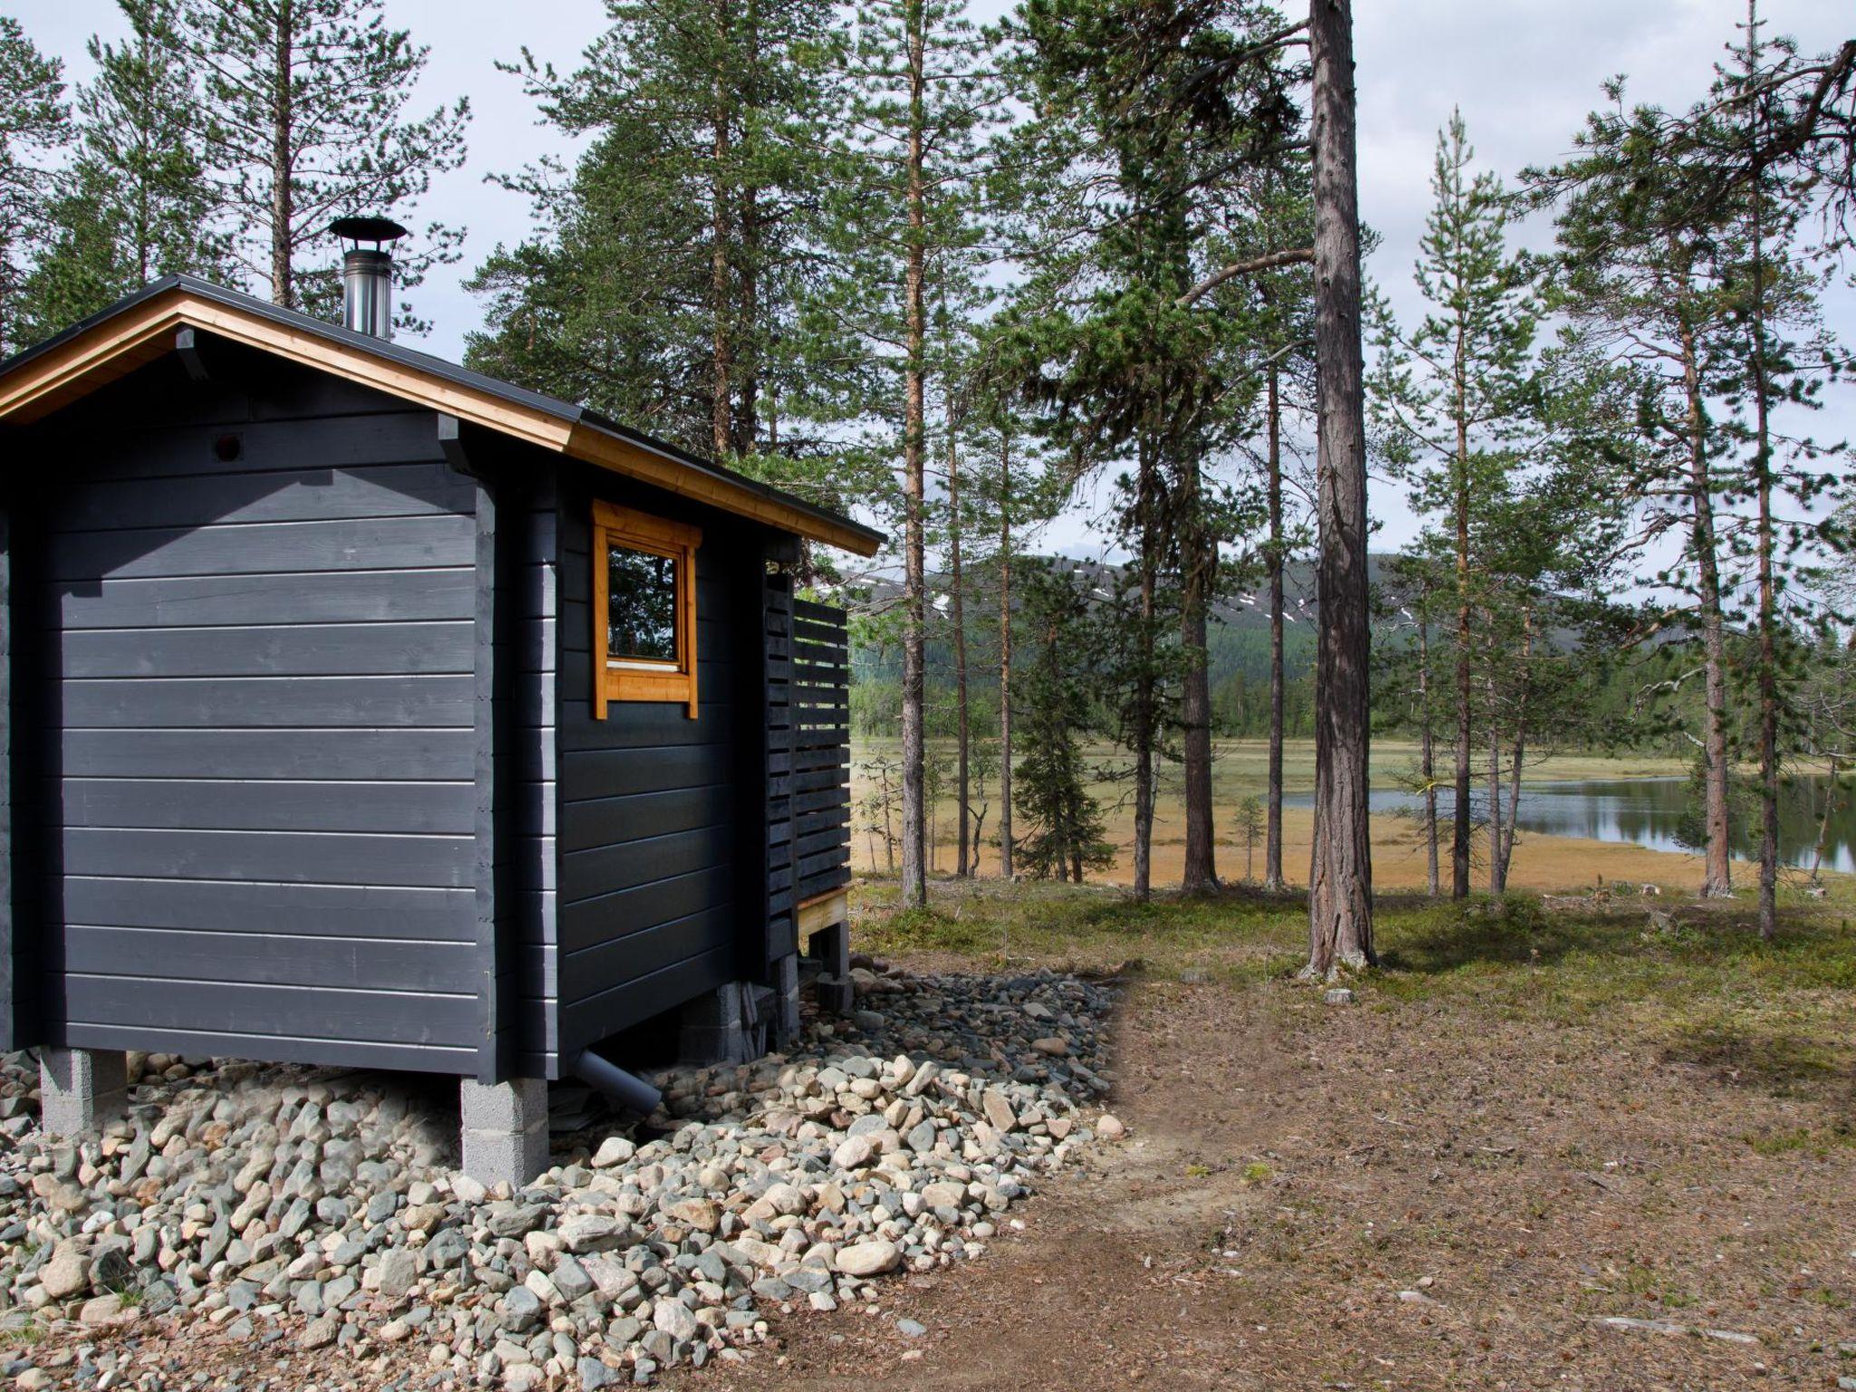
[[[631,431],[586,406],[187,275],[154,280],[56,338],[0,362],[0,423],[22,425],[50,416],[173,353],[180,329],[199,329],[345,377],[815,542],[857,555],[874,555],[883,544],[882,533],[859,522]]]

